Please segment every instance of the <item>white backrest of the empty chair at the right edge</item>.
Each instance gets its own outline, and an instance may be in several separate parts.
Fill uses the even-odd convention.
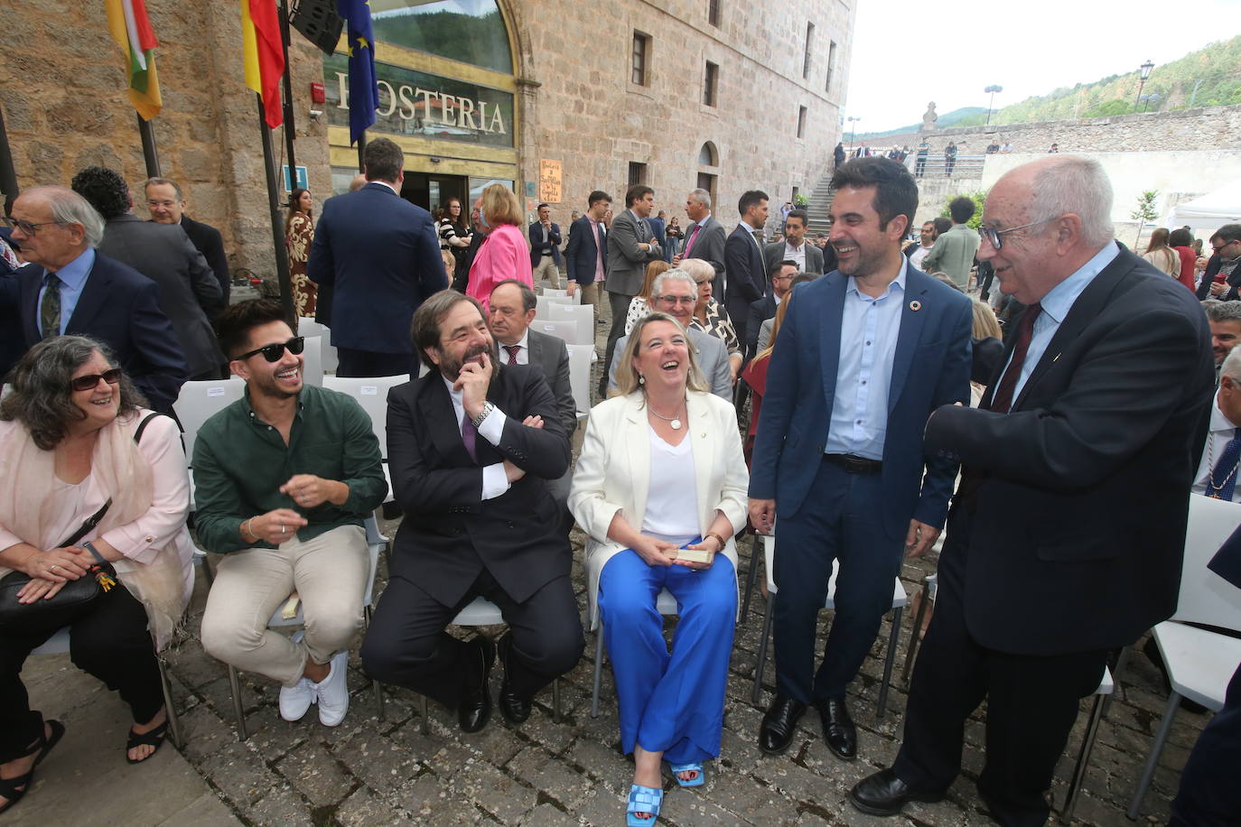
[[[1241,594],[1206,568],[1239,524],[1241,503],[1189,495],[1185,563],[1180,570],[1180,595],[1173,620],[1241,631]]]

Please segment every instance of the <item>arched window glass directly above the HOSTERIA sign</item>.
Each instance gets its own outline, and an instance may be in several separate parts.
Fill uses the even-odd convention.
[[[495,0],[383,0],[371,6],[375,40],[513,74]]]

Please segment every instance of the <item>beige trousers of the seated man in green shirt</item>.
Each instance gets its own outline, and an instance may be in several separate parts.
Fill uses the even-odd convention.
[[[202,647],[244,672],[295,686],[307,657],[326,663],[362,627],[370,558],[366,529],[339,526],[279,548],[225,554],[202,614]],[[293,642],[267,622],[294,591],[302,598],[305,639]]]

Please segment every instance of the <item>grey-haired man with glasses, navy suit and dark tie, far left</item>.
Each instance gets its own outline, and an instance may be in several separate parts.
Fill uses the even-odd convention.
[[[159,309],[159,288],[138,270],[96,253],[103,218],[67,187],[26,190],[5,219],[25,267],[0,279],[0,315],[16,306],[20,326],[0,330],[26,352],[62,334],[108,345],[120,367],[163,413],[172,412],[186,367],[172,325]]]

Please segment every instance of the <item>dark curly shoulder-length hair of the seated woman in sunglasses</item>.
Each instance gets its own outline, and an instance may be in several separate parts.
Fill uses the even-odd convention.
[[[115,367],[112,350],[87,336],[56,336],[38,342],[9,372],[12,392],[0,400],[0,420],[19,422],[30,431],[35,445],[50,451],[68,435],[69,423],[86,419],[73,404],[73,373],[99,351]],[[135,413],[146,405],[129,377],[122,372],[120,414]]]

